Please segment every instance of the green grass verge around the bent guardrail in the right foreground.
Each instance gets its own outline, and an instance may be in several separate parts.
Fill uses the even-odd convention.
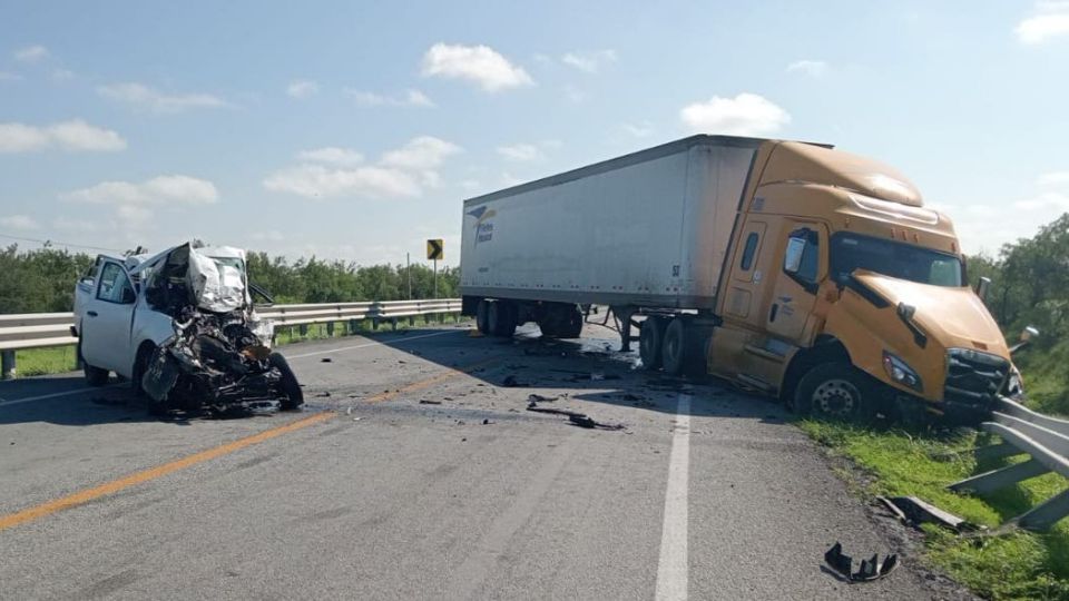
[[[871,430],[810,420],[798,425],[861,467],[864,477],[850,480],[862,496],[915,495],[992,529],[1069,487],[1062,476],[1046,474],[984,497],[947,490],[958,480],[1026,459],[978,464],[970,451],[991,444],[988,434]],[[963,538],[930,525],[924,532],[926,561],[982,597],[1069,600],[1069,520],[1043,534]]]

